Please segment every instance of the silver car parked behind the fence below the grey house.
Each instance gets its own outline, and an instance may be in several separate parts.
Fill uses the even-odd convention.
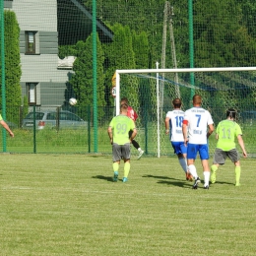
[[[56,111],[36,111],[35,113],[36,129],[42,130],[45,127],[56,129],[78,129],[86,128],[88,122],[84,121],[78,115],[62,110]],[[23,120],[24,129],[33,128],[33,112],[30,112]]]

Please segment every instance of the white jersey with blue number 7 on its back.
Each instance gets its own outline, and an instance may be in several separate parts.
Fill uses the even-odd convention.
[[[210,112],[202,107],[192,107],[185,111],[188,121],[188,137],[191,144],[207,144],[208,125],[213,124]]]

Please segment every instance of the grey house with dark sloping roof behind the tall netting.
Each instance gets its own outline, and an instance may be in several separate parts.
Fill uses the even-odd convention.
[[[30,105],[62,106],[69,97],[68,82],[74,57],[58,58],[58,46],[85,40],[93,30],[93,16],[81,0],[9,0],[4,8],[15,12],[20,26],[22,95]],[[101,42],[113,33],[100,21]]]

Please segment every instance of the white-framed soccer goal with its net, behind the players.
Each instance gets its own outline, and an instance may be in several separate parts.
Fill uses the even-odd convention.
[[[180,97],[182,109],[186,110],[192,106],[192,96],[198,94],[216,126],[225,119],[227,108],[237,110],[247,152],[256,156],[256,67],[116,70],[115,79],[116,114],[120,98],[128,97],[129,104],[139,113],[137,140],[146,154],[159,158],[173,155],[165,135],[165,114],[172,109],[173,98]],[[212,135],[210,154],[215,147]]]

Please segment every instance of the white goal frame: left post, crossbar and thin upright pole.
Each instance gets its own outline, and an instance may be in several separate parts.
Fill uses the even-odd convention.
[[[158,105],[158,157],[160,158],[160,91],[159,74],[162,73],[197,73],[197,72],[229,72],[229,71],[256,71],[256,67],[224,67],[224,68],[183,68],[183,69],[127,69],[116,70],[115,94],[116,94],[116,115],[120,111],[120,74],[153,74],[156,73],[157,79],[157,105]]]

